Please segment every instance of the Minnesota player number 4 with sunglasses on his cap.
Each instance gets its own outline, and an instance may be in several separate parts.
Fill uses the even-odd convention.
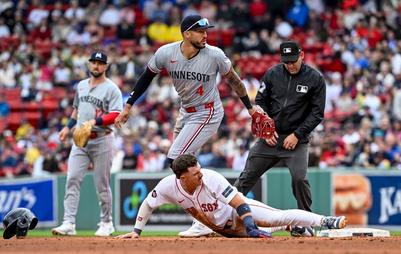
[[[129,117],[131,106],[146,91],[157,73],[165,68],[181,100],[174,140],[167,154],[170,168],[178,155],[196,152],[217,133],[224,116],[216,84],[218,73],[226,77],[248,112],[252,114],[255,111],[230,59],[221,49],[206,44],[206,29],[211,27],[209,21],[199,15],[186,16],[181,21],[183,41],[164,45],[156,51],[134,85],[123,111],[115,119],[116,127],[121,128],[121,122],[124,124]],[[192,227],[180,232],[179,236],[208,234],[213,234],[213,230],[194,221]]]

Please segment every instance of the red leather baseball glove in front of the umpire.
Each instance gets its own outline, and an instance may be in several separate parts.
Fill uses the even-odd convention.
[[[261,139],[271,139],[276,130],[274,120],[258,105],[256,105],[256,110],[251,116],[252,133]]]

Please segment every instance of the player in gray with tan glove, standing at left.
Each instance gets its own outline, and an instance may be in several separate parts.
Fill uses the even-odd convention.
[[[68,158],[66,195],[64,197],[63,224],[53,228],[53,234],[75,235],[75,216],[78,210],[81,183],[89,164],[93,164],[93,178],[100,204],[100,223],[97,236],[109,236],[114,232],[111,216],[110,167],[114,155],[115,137],[113,122],[122,109],[122,93],[118,86],[106,78],[107,55],[94,52],[89,59],[91,77],[78,83],[74,111],[67,125],[59,133],[65,141],[70,130],[84,121],[93,128],[86,147],[73,144]]]

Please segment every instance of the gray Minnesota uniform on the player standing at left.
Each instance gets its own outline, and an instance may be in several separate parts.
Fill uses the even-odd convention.
[[[107,79],[91,88],[89,78],[77,85],[73,106],[78,109],[77,126],[110,112],[121,112],[122,93],[118,86]],[[113,124],[95,125],[86,147],[73,144],[68,159],[66,195],[64,197],[64,221],[75,223],[81,183],[89,164],[93,163],[94,182],[100,204],[101,221],[109,222],[111,216],[110,167],[115,150]]]

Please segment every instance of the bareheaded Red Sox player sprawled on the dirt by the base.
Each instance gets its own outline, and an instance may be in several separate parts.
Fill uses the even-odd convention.
[[[134,230],[115,238],[139,237],[153,209],[167,204],[179,205],[226,237],[272,237],[272,232],[287,229],[297,233],[294,228],[311,230],[309,226],[339,229],[347,222],[345,216],[328,217],[298,209],[278,210],[246,198],[221,174],[201,168],[191,154],[178,156],[173,172],[174,175],[162,179],[142,202]],[[257,225],[266,227],[266,231]]]

